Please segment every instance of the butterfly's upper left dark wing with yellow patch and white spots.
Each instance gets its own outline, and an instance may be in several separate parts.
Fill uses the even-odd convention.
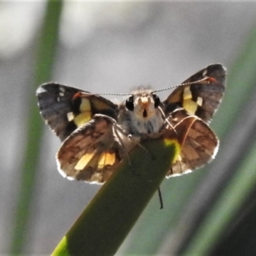
[[[83,93],[83,96],[79,95]],[[40,113],[52,131],[65,140],[95,114],[116,119],[118,106],[113,102],[83,90],[56,83],[42,84],[36,95]]]

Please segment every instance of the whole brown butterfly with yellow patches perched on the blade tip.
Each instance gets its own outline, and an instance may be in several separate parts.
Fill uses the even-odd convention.
[[[46,124],[60,138],[58,170],[67,179],[103,183],[129,156],[141,138],[179,129],[193,116],[186,140],[166,177],[204,166],[216,156],[219,140],[209,127],[225,92],[226,69],[212,64],[189,77],[160,100],[154,90],[138,88],[120,104],[58,83],[42,84],[38,106]]]

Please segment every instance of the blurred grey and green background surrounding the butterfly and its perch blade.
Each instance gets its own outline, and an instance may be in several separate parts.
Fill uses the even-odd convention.
[[[164,209],[154,196],[117,255],[255,255],[256,4],[53,2],[0,3],[0,254],[49,255],[100,188],[56,170],[41,83],[127,93],[222,63],[216,159],[164,180]]]

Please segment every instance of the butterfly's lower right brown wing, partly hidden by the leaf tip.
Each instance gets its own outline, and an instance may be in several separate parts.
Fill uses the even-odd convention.
[[[168,120],[175,127],[188,116],[186,111],[177,110],[173,111]],[[167,177],[182,175],[200,168],[214,159],[218,152],[219,140],[217,136],[202,119],[197,116],[194,117],[195,121],[188,129],[180,156],[172,164]]]

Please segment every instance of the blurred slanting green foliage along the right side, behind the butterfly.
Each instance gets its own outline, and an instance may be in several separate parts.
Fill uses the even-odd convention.
[[[220,134],[218,161],[191,175],[165,180],[164,211],[157,213],[153,206],[148,207],[124,255],[255,255],[255,244],[237,245],[242,239],[251,241],[255,231],[236,232],[242,223],[250,227],[252,214],[248,212],[256,212],[252,200],[256,187],[256,26],[244,40],[237,60],[228,67],[227,91],[211,125]],[[212,191],[202,197],[207,169],[223,174],[222,179],[211,175]],[[191,202],[201,211],[192,209]]]

